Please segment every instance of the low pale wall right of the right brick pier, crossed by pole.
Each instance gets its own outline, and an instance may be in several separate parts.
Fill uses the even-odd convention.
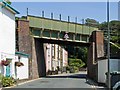
[[[107,59],[98,61],[98,82],[100,83],[106,82],[107,62]],[[120,59],[110,59],[110,72],[115,71],[120,72]]]

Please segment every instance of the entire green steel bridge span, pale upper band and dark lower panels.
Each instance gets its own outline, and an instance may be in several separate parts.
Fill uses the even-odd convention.
[[[36,16],[27,16],[33,37],[64,40],[67,33],[68,41],[89,42],[89,36],[98,28],[78,23],[48,19]]]

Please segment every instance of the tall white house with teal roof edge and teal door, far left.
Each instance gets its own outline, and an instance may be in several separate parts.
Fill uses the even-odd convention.
[[[3,66],[0,64],[0,72],[5,76],[12,76],[15,61],[15,14],[19,14],[17,10],[8,3],[0,0],[0,62],[9,58],[10,65]]]

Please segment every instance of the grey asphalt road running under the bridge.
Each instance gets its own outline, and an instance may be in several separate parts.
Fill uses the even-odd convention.
[[[92,90],[105,90],[103,86],[98,86],[93,80],[86,80],[85,71],[74,74],[48,75],[44,78],[29,80],[3,89],[10,88],[92,88]]]

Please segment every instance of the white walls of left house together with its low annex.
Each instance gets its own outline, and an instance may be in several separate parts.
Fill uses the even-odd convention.
[[[15,76],[15,61],[18,61],[18,57],[15,56],[15,14],[2,8],[0,2],[0,61],[6,60],[6,58],[12,58],[10,63],[10,74],[14,78]],[[20,61],[24,63],[24,66],[17,67],[17,78],[28,78],[28,58],[22,56]],[[1,66],[1,65],[0,65]],[[2,74],[6,75],[6,66],[1,66]]]

